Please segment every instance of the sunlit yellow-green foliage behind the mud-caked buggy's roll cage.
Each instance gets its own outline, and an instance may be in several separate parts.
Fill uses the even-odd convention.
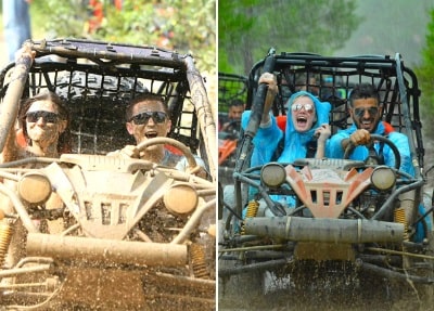
[[[51,37],[89,37],[110,42],[158,46],[180,53],[191,53],[200,70],[215,73],[216,2],[215,0],[124,0],[116,10],[111,0],[102,0],[104,21],[92,34],[85,31],[91,17],[86,0],[34,1],[38,15],[46,16],[46,34]],[[33,5],[34,5],[33,4]],[[44,12],[51,12],[47,18]],[[41,21],[42,22],[42,21]]]

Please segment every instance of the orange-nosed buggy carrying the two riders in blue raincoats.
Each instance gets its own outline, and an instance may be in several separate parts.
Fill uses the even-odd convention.
[[[289,96],[307,88],[332,105],[332,133],[350,126],[348,93],[354,85],[372,83],[384,104],[383,120],[392,126],[390,130],[409,139],[416,176],[399,170],[399,153],[386,137],[379,135],[373,138],[375,143],[384,142],[396,150],[395,167],[380,165],[375,156],[350,160],[350,148],[345,158],[301,158],[250,167],[252,141],[267,92],[267,86],[257,81],[265,72],[277,76],[275,116],[285,118]],[[419,116],[421,92],[416,75],[404,65],[401,56],[278,55],[270,50],[255,64],[247,83],[247,109],[252,113],[240,138],[234,183],[225,190],[219,204],[219,299],[230,295],[233,287],[226,284],[232,277],[248,273],[260,274],[263,294],[305,288],[302,293],[315,297],[319,294],[311,291],[312,284],[328,272],[341,273],[346,281],[352,274],[359,285],[391,297],[396,291],[391,294],[388,289],[395,287],[390,284],[405,284],[409,293],[427,297],[434,281],[432,195],[423,190],[426,177]],[[295,206],[284,206],[272,195],[293,196]],[[419,205],[424,206],[424,215]],[[272,217],[266,217],[266,210]],[[360,280],[368,276],[372,278],[363,284]],[[359,288],[346,282],[323,282],[316,289],[321,286]]]

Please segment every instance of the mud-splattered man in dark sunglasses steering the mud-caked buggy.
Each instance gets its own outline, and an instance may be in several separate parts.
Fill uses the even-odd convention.
[[[166,137],[170,131],[171,121],[165,100],[157,94],[145,93],[131,100],[126,111],[126,127],[137,144],[156,137]],[[122,155],[125,157],[142,158],[163,166],[175,167],[187,171],[184,156],[167,150],[163,144],[153,145],[139,154],[136,145],[127,145],[120,151],[110,153],[108,156]],[[205,167],[200,157],[195,157],[197,165]]]

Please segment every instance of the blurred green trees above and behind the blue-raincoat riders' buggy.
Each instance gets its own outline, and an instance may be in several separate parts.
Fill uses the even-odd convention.
[[[355,0],[220,0],[219,70],[246,74],[271,47],[331,54],[361,22],[355,8]]]

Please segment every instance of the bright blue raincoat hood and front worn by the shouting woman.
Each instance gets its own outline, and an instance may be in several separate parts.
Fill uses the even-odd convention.
[[[299,96],[308,96],[311,99],[315,105],[315,113],[317,120],[312,128],[306,132],[297,132],[295,130],[294,124],[291,116],[291,105]],[[279,161],[291,163],[297,158],[306,157],[307,143],[314,140],[315,130],[323,125],[329,124],[329,113],[331,105],[329,102],[320,102],[318,98],[314,96],[311,93],[306,91],[299,91],[289,99],[288,111],[289,115],[286,117],[286,128],[284,134],[284,150],[282,155],[279,157]]]

